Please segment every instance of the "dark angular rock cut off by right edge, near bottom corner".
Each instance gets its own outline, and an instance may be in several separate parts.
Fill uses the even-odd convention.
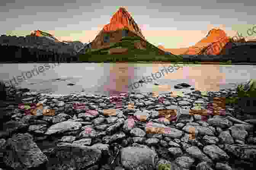
[[[253,162],[256,159],[256,145],[224,144],[224,150],[246,161]]]

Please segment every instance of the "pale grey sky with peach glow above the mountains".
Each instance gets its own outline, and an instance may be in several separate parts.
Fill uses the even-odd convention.
[[[254,0],[1,0],[0,34],[26,36],[41,30],[60,40],[88,43],[120,6],[147,41],[169,49],[193,46],[212,28],[246,37],[256,26]]]

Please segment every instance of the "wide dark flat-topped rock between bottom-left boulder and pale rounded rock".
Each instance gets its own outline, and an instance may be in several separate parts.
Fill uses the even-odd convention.
[[[54,148],[55,159],[49,159],[48,167],[54,170],[77,169],[96,164],[101,158],[101,150],[72,143],[59,143]],[[57,161],[62,160],[62,161]],[[87,169],[87,168],[86,168]]]

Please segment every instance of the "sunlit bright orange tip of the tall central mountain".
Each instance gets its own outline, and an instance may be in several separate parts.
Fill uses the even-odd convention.
[[[142,35],[141,29],[138,27],[136,22],[133,20],[131,15],[124,7],[120,7],[118,11],[112,16],[110,19],[110,23],[103,27],[104,32],[116,31],[128,29],[129,31],[133,31],[136,35],[145,39]]]

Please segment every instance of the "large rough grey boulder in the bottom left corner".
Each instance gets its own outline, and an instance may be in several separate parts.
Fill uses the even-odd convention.
[[[48,159],[33,142],[28,133],[17,134],[6,141],[6,154],[3,162],[14,169],[36,168],[44,165]]]

